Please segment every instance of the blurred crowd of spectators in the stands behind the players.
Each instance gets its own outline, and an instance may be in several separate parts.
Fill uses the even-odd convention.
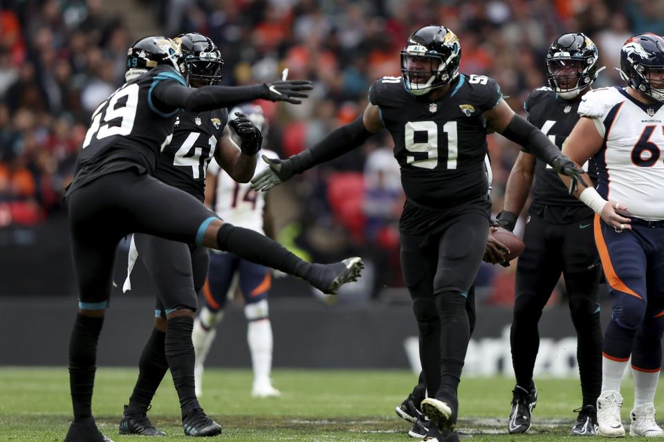
[[[224,84],[269,81],[285,67],[289,78],[315,81],[301,106],[261,103],[268,146],[282,156],[354,119],[374,79],[400,75],[399,50],[419,26],[454,30],[461,71],[497,79],[517,111],[530,90],[545,84],[544,55],[557,35],[582,31],[594,39],[600,66],[607,66],[598,86],[606,86],[620,84],[611,68],[627,37],[664,34],[664,2],[643,0],[116,2],[124,8],[109,14],[110,2],[102,0],[0,0],[0,227],[43,222],[64,210],[62,194],[91,112],[122,84],[127,47],[145,35],[127,25],[138,11],[169,37],[209,35],[225,59]],[[376,289],[398,285],[404,198],[391,147],[389,135],[380,133],[284,186],[279,198],[297,204],[275,213],[282,240],[316,260],[364,254],[381,269],[374,272]],[[499,135],[490,135],[489,148],[499,211],[518,151]],[[509,271],[485,268],[481,278],[510,284]]]

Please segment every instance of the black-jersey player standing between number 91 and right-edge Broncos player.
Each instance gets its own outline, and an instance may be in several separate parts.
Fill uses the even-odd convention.
[[[562,143],[579,119],[581,97],[600,72],[598,51],[581,33],[564,34],[551,44],[546,55],[548,87],[533,90],[524,107],[528,121],[540,128],[556,146]],[[594,160],[584,165],[597,181]],[[533,185],[533,178],[535,184]],[[516,273],[514,319],[510,332],[512,361],[517,378],[513,390],[510,433],[531,427],[531,412],[537,404],[533,367],[540,335],[537,323],[560,273],[564,275],[569,309],[578,336],[577,358],[581,376],[582,406],[572,435],[596,434],[596,401],[602,381],[602,329],[598,305],[600,258],[593,236],[593,211],[569,195],[557,174],[533,155],[521,152],[507,182],[500,224],[513,230],[526,204],[524,242]]]

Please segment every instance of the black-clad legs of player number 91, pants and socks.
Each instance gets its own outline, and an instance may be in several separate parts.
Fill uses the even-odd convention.
[[[420,360],[430,396],[452,407],[468,349],[466,300],[486,246],[488,216],[450,216],[433,235],[401,234],[401,268],[418,325]]]

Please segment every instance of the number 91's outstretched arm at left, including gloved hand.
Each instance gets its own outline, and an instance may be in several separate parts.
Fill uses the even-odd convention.
[[[256,191],[268,191],[282,182],[289,180],[296,173],[302,173],[313,166],[334,160],[344,153],[352,151],[362,144],[374,133],[383,128],[380,119],[380,108],[375,104],[367,105],[365,112],[352,123],[341,126],[324,137],[322,141],[287,160],[271,160],[263,157],[270,165],[251,180],[251,187]]]

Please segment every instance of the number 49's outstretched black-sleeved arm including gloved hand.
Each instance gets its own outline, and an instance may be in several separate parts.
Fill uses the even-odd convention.
[[[203,86],[188,88],[177,81],[159,81],[151,92],[155,106],[165,111],[174,108],[192,112],[213,111],[232,108],[254,99],[268,99],[273,102],[302,103],[298,98],[308,97],[307,91],[313,88],[311,81],[286,80],[253,86]]]

